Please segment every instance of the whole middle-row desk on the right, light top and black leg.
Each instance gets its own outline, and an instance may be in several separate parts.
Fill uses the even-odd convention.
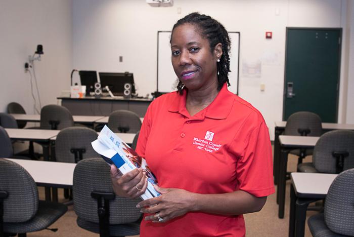
[[[278,170],[277,202],[279,203],[278,217],[284,218],[285,188],[286,188],[286,168],[288,165],[288,154],[290,150],[297,148],[313,148],[319,137],[305,136],[279,136],[280,155]]]

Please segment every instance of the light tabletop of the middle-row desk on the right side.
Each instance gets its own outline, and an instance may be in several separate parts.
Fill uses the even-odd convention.
[[[320,137],[286,136],[280,135],[279,142],[282,147],[314,147]]]

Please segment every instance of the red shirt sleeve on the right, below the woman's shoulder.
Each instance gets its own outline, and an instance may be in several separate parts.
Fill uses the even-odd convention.
[[[269,131],[263,118],[259,116],[256,126],[253,126],[244,138],[244,146],[236,167],[239,189],[257,197],[275,192]]]

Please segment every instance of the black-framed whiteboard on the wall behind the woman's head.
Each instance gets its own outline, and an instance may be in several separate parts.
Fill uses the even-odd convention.
[[[231,40],[228,88],[238,94],[240,32],[228,32]],[[177,76],[171,63],[171,47],[169,44],[171,31],[157,31],[157,88],[159,92],[175,91]]]

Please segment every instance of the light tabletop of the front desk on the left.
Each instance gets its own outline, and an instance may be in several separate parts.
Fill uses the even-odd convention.
[[[22,166],[38,186],[72,187],[75,163],[7,159]]]

